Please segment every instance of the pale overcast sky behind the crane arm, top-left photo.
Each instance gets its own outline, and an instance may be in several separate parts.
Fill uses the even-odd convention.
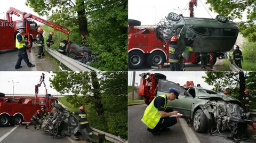
[[[0,9],[0,19],[5,18],[6,12],[9,10],[10,7],[14,7],[15,9],[34,14],[36,16],[39,16],[36,12],[33,11],[32,8],[25,5],[26,0],[7,0],[7,1],[1,1],[1,9]],[[47,19],[46,16],[40,16],[43,19]],[[13,20],[20,20],[20,18],[13,14]],[[36,23],[39,23],[36,21]]]

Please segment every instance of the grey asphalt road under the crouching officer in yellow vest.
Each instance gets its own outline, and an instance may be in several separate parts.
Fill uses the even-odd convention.
[[[162,132],[159,136],[153,136],[147,131],[141,118],[146,109],[146,105],[134,105],[128,107],[128,139],[129,142],[175,142],[175,143],[232,143],[224,137],[210,136],[207,133],[197,133],[190,127],[184,119],[179,119],[178,123],[170,127],[170,131]],[[225,134],[225,133],[224,133]],[[245,141],[240,141],[244,143]]]

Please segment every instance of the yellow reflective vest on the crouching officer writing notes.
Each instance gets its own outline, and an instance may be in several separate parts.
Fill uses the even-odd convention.
[[[164,109],[166,109],[167,103],[168,103],[166,95],[159,95],[156,98],[158,98],[158,97],[163,97],[165,99]],[[159,111],[154,106],[155,99],[148,105],[148,107],[146,108],[144,115],[141,119],[141,121],[143,123],[145,123],[147,125],[147,127],[150,129],[154,129],[161,118]]]

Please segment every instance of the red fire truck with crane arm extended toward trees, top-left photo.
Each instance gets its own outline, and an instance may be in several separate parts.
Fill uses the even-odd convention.
[[[21,20],[13,21],[12,14],[19,16]],[[10,7],[6,12],[6,19],[7,20],[0,19],[0,51],[15,49],[15,36],[19,29],[25,29],[23,36],[25,36],[25,39],[29,41],[28,48],[30,52],[33,42],[36,42],[37,28],[39,27],[34,20],[69,35],[69,29],[51,21],[41,19],[33,14],[21,12],[13,7]]]

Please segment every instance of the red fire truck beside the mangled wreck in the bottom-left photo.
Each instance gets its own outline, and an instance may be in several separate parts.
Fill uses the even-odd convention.
[[[30,122],[30,118],[41,110],[41,107],[46,107],[46,111],[50,112],[54,105],[58,103],[58,98],[51,97],[45,88],[45,97],[34,98],[25,96],[5,96],[0,93],[0,127],[7,125],[17,125]]]

